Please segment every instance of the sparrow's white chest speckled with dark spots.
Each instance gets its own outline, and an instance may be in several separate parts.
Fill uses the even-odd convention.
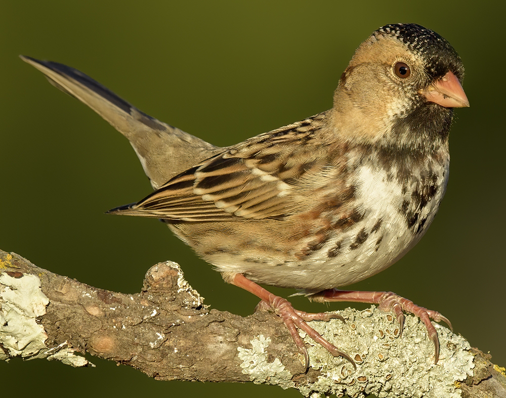
[[[313,288],[348,285],[389,267],[425,234],[448,181],[449,158],[427,157],[409,172],[364,161],[350,177],[359,219],[321,248]],[[312,266],[309,266],[311,269]]]

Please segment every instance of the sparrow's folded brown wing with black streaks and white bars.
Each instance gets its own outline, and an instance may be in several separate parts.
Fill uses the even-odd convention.
[[[112,213],[182,222],[283,218],[301,205],[309,174],[325,167],[313,139],[321,115],[254,137],[175,176]],[[304,200],[302,200],[304,201]]]

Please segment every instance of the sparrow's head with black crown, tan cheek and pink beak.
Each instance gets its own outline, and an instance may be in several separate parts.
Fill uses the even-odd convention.
[[[453,108],[469,106],[463,73],[460,57],[436,32],[415,24],[383,26],[341,76],[336,127],[370,144],[437,147],[448,138]]]

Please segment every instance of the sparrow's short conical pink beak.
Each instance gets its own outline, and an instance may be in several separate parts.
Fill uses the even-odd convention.
[[[469,106],[468,97],[462,89],[457,77],[448,72],[441,79],[432,83],[427,89],[420,90],[427,101],[434,102],[445,108],[463,108]]]

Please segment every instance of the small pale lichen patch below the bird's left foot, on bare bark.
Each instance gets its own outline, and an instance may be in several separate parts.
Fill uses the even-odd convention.
[[[294,387],[291,373],[285,369],[279,358],[268,362],[267,347],[270,342],[269,337],[261,334],[251,340],[253,348],[237,348],[242,360],[242,373],[249,375],[249,380],[256,384],[275,384],[284,389]]]

